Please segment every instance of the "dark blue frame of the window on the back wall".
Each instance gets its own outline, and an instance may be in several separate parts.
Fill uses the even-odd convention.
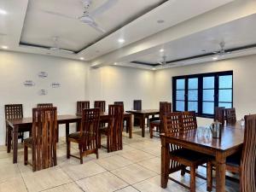
[[[176,82],[177,79],[185,80],[185,95],[184,95],[184,110],[187,111],[189,107],[189,79],[197,78],[198,79],[198,112],[196,115],[198,117],[203,118],[213,118],[214,114],[202,113],[203,112],[203,78],[205,77],[214,77],[214,108],[218,107],[218,92],[222,90],[219,88],[219,76],[227,76],[232,75],[232,87],[231,87],[231,108],[233,108],[233,92],[234,92],[234,74],[233,71],[224,71],[224,72],[214,72],[214,73],[198,73],[198,74],[190,74],[190,75],[182,75],[172,77],[172,111],[176,112]],[[214,110],[214,109],[213,109]]]

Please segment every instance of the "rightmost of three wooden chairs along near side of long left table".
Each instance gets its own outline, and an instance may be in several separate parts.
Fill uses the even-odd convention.
[[[101,135],[107,136],[107,149],[108,153],[122,150],[123,140],[123,121],[124,121],[124,107],[122,105],[109,105],[108,106],[109,122],[108,127],[100,128],[99,145],[101,145]]]

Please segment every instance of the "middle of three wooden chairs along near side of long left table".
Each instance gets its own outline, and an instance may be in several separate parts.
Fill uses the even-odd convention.
[[[100,108],[83,109],[80,131],[69,134],[67,137],[67,159],[70,156],[78,158],[83,164],[83,157],[96,154],[98,159],[98,132],[100,122]],[[70,143],[79,144],[79,157],[70,154]]]

